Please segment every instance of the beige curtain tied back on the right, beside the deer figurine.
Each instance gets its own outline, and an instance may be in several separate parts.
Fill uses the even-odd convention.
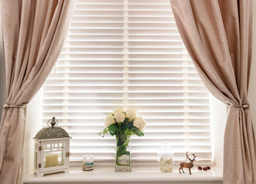
[[[255,139],[248,104],[251,0],[171,0],[181,38],[211,94],[231,104],[224,133],[224,183],[255,184]],[[235,106],[235,107],[234,107]]]

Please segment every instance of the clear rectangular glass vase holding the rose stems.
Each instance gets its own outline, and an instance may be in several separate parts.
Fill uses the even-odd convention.
[[[115,172],[131,172],[131,137],[115,135]]]

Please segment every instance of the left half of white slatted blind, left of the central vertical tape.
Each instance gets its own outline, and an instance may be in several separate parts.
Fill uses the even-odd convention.
[[[123,64],[123,1],[78,0],[56,73],[44,86],[43,122],[53,116],[67,122],[71,161],[85,154],[96,161],[115,158],[115,137],[97,133],[104,117],[123,107]]]

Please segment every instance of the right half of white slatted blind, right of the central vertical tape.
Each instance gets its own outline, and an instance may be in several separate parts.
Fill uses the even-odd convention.
[[[128,0],[128,106],[147,120],[134,159],[155,159],[164,141],[211,163],[208,90],[181,41],[169,0]]]

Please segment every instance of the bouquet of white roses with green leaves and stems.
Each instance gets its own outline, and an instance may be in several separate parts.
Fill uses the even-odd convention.
[[[128,109],[114,110],[108,117],[105,117],[105,129],[98,133],[100,136],[105,136],[110,133],[111,136],[116,138],[116,165],[130,166],[121,163],[121,156],[129,156],[130,152],[127,151],[128,144],[130,143],[131,135],[144,136],[142,132],[146,123],[142,117],[137,117],[137,110]]]

